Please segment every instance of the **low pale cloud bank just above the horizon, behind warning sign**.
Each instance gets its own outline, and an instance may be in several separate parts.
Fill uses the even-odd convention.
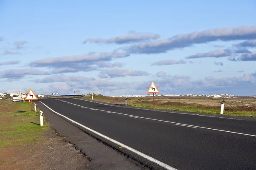
[[[154,81],[162,94],[192,94],[192,93],[230,93],[234,89],[237,94],[251,94],[256,85],[256,73],[244,74],[241,77],[205,77],[204,79],[192,80],[188,76],[175,75],[168,78],[156,78],[151,81],[116,82],[111,78],[93,78],[80,76],[55,75],[45,79],[37,80],[38,83],[52,83],[48,88],[39,92],[51,94],[63,92],[63,94],[73,94],[79,89],[84,93],[94,92],[99,94],[146,94],[146,91]],[[57,82],[57,83],[55,83]],[[43,92],[41,92],[43,91]],[[255,90],[254,90],[255,91]]]

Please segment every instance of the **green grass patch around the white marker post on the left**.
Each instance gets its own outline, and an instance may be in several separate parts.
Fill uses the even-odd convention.
[[[0,149],[3,147],[36,144],[40,134],[49,128],[44,120],[40,126],[39,112],[31,115],[29,102],[0,101]]]

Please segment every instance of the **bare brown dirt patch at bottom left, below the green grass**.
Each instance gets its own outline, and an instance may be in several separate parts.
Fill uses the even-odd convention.
[[[73,144],[46,130],[38,144],[0,149],[0,170],[86,170],[90,161]]]

